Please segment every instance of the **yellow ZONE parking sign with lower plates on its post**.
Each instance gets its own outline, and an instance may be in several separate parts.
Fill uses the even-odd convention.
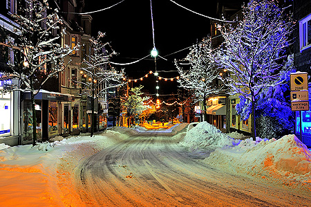
[[[302,140],[301,111],[309,111],[308,73],[290,73],[290,101],[292,111],[299,111],[300,140]]]

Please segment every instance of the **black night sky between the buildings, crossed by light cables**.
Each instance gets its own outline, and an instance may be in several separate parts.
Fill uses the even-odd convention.
[[[107,8],[121,0],[95,1],[86,0],[86,11]],[[215,17],[216,1],[207,0],[176,0],[182,6],[201,13],[202,15]],[[209,19],[189,12],[177,6],[169,0],[153,0],[153,23],[155,44],[159,55],[168,61],[158,57],[155,66],[154,59],[148,57],[138,63],[117,66],[125,69],[126,75],[132,78],[141,78],[149,71],[177,71],[173,60],[184,58],[189,49],[179,53],[210,33]],[[100,30],[106,33],[104,41],[111,42],[113,49],[119,53],[111,61],[127,63],[138,60],[150,54],[153,48],[153,33],[151,24],[151,10],[149,0],[125,0],[122,3],[91,14],[93,36]],[[170,55],[171,53],[175,53]],[[176,77],[178,73],[159,72],[162,77]],[[153,75],[144,81],[138,81],[137,85],[143,84],[150,93],[156,92],[156,80]],[[160,81],[160,94],[176,93],[176,81]]]

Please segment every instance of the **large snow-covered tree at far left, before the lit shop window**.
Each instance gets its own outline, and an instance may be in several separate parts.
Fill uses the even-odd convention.
[[[1,79],[17,79],[20,84],[10,90],[30,92],[32,105],[32,139],[37,143],[35,95],[51,77],[58,75],[64,66],[64,57],[72,53],[73,48],[60,44],[62,31],[59,30],[62,19],[58,10],[52,10],[48,1],[32,0],[26,7],[19,8],[18,15],[12,15],[19,24],[19,33],[15,41],[1,43],[14,49],[15,62],[8,62],[10,71],[4,71]],[[19,60],[19,61],[18,61]]]

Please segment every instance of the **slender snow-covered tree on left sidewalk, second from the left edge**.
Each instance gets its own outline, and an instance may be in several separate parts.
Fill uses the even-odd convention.
[[[86,55],[81,65],[82,73],[86,77],[86,82],[80,82],[84,89],[82,95],[84,94],[91,98],[91,136],[93,136],[95,127],[93,124],[95,123],[95,99],[104,99],[109,89],[120,87],[124,84],[123,71],[116,71],[113,67],[109,66],[109,58],[115,55],[115,51],[109,52],[106,50],[109,43],[102,43],[101,39],[104,36],[104,33],[98,32],[97,37],[90,39],[93,52],[90,55]]]

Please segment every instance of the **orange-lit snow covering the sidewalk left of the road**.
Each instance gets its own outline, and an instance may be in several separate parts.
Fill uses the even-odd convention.
[[[0,206],[85,206],[74,186],[75,167],[123,136],[108,131],[35,147],[0,145]]]

